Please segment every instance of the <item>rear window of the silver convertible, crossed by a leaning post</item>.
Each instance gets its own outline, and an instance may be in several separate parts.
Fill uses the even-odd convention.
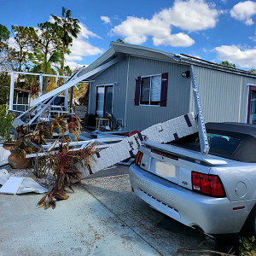
[[[219,156],[231,156],[235,152],[238,145],[241,143],[240,138],[221,134],[207,133],[207,137],[210,146],[209,153]],[[201,150],[198,133],[180,138],[175,142],[172,142],[172,144],[196,151]]]

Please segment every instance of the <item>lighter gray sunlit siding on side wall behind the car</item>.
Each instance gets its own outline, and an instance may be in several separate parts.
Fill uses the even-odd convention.
[[[196,81],[205,122],[246,122],[247,84],[256,79],[195,66]],[[190,90],[189,111],[195,111]]]

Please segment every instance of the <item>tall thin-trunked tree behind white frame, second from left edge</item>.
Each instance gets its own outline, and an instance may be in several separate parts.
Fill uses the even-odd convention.
[[[12,26],[12,33],[14,34],[15,43],[18,47],[18,71],[21,71],[22,65],[26,64],[26,61],[32,56],[32,54],[29,54],[32,50],[32,38],[37,37],[37,33],[32,26]],[[20,76],[17,80],[17,83],[19,82]]]

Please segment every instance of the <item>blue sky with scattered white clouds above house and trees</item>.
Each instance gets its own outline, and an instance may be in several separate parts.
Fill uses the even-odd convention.
[[[62,6],[80,20],[67,65],[89,65],[121,38],[207,61],[229,61],[256,69],[256,2],[236,0],[0,0],[0,23],[9,30],[61,15]],[[13,38],[10,44],[14,46]]]

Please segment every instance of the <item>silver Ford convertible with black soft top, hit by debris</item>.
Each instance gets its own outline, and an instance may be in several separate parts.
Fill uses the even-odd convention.
[[[256,236],[256,125],[208,123],[198,133],[145,142],[130,167],[132,191],[178,222],[207,234]]]

